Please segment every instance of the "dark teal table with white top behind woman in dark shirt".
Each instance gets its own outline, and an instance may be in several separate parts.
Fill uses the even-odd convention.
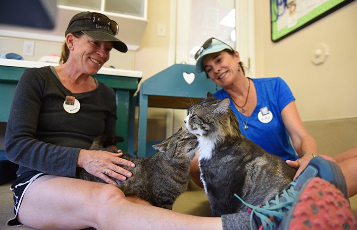
[[[16,84],[26,68],[53,65],[34,61],[0,59],[0,122],[7,122]],[[128,152],[128,139],[133,131],[135,101],[132,99],[142,78],[142,72],[102,68],[97,75],[100,82],[115,91],[117,102],[116,134],[125,139],[118,148]],[[130,142],[130,141],[129,141]],[[129,148],[132,149],[132,148]],[[132,154],[132,152],[128,152]]]

